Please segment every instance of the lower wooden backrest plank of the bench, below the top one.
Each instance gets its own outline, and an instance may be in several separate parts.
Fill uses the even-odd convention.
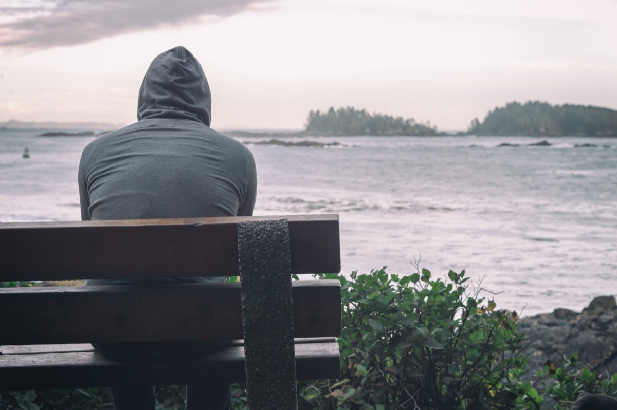
[[[341,332],[336,280],[293,281],[296,337]],[[0,289],[0,345],[242,338],[240,284]]]

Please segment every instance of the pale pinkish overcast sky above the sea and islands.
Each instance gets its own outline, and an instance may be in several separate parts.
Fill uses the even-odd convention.
[[[617,109],[617,0],[2,0],[0,122],[136,121],[185,46],[215,129],[365,109],[465,130],[507,102]]]

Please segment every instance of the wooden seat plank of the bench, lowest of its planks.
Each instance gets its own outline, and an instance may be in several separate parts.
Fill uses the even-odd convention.
[[[339,348],[329,342],[296,345],[299,380],[339,377]],[[96,352],[0,355],[0,391],[244,381],[242,346],[186,361],[120,362]]]

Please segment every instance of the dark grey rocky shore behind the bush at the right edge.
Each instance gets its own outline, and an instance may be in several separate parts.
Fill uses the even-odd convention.
[[[547,360],[557,366],[563,355],[578,352],[579,362],[597,374],[617,373],[617,303],[613,296],[597,297],[582,312],[553,313],[520,319],[520,332],[529,337],[523,355],[529,358],[530,379]]]

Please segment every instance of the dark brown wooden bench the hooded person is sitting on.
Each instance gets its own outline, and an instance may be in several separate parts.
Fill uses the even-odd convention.
[[[267,237],[268,224],[273,221],[288,227],[288,250],[278,244],[255,245],[253,252],[259,256],[239,250],[239,227],[252,224],[251,229]],[[255,239],[249,236],[248,240],[252,247]],[[269,263],[270,258],[284,260],[285,255],[291,259],[290,271],[284,274],[292,282],[297,379],[337,378],[340,284],[312,277],[291,281],[289,277],[290,273],[339,272],[337,215],[0,224],[0,281],[248,278],[242,269],[249,270],[255,260]],[[1,288],[0,392],[210,380],[248,384],[249,357],[242,339],[249,343],[253,336],[243,334],[246,301],[241,300],[241,293],[254,296],[244,294],[245,282],[248,287],[249,281],[243,279],[242,284]],[[267,295],[268,300],[273,296]],[[279,320],[269,315],[258,319],[265,329],[275,327]],[[202,340],[233,342],[198,359],[136,362],[104,358],[88,344]],[[276,348],[266,346],[265,350]],[[260,369],[267,374],[275,370]],[[252,378],[253,383],[271,383]],[[280,394],[279,388],[275,391]],[[270,400],[269,408],[277,408],[276,397]]]

